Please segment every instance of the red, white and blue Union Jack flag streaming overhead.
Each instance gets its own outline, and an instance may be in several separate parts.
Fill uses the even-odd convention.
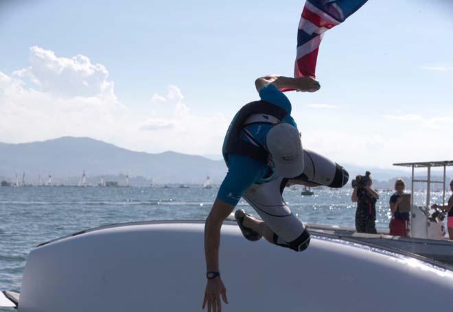
[[[340,25],[368,0],[307,0],[297,32],[294,77],[315,77],[318,49],[327,30]]]

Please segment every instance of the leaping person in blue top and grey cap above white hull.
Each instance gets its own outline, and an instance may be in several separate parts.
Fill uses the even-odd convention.
[[[220,298],[228,302],[219,268],[220,228],[241,197],[261,217],[236,211],[235,218],[246,239],[258,241],[264,237],[272,244],[301,252],[310,243],[310,233],[283,200],[284,187],[342,187],[349,178],[340,165],[303,149],[297,124],[291,117],[291,103],[280,91],[318,91],[316,80],[268,75],[258,78],[255,86],[260,100],[237,112],[225,136],[222,152],[229,170],[206,219],[208,280],[202,309],[207,306],[209,312],[221,311]]]

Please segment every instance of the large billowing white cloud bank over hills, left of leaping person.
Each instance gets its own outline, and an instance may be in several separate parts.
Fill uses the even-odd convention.
[[[148,113],[117,99],[108,69],[86,56],[30,49],[30,66],[0,72],[0,141],[89,136],[135,150],[220,151],[228,126],[222,115],[196,115],[177,86],[152,95]]]

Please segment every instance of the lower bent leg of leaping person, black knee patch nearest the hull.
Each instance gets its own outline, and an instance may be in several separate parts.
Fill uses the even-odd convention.
[[[263,235],[270,243],[302,251],[310,243],[310,234],[281,197],[283,183],[283,178],[277,178],[268,183],[253,184],[246,191],[244,199],[263,221],[246,217],[244,226]]]

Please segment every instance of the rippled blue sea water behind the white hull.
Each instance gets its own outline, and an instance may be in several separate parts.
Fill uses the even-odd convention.
[[[20,291],[27,254],[34,245],[106,224],[128,221],[205,219],[218,188],[201,187],[0,187],[0,290]],[[283,197],[302,221],[354,226],[351,189],[286,188]],[[391,192],[377,202],[377,228],[388,229]],[[416,193],[415,202],[423,202]],[[433,193],[440,202],[441,193]],[[239,206],[256,215],[246,202]],[[1,310],[0,311],[7,311]]]

